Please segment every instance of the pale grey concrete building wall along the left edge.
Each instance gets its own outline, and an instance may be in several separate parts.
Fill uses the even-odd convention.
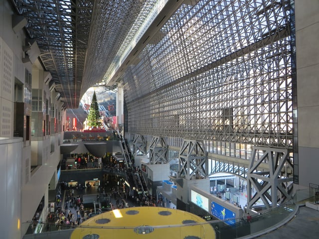
[[[48,202],[48,184],[56,174],[60,161],[58,140],[54,140],[55,150],[51,152],[50,136],[36,141],[31,156],[31,143],[22,142],[22,138],[13,138],[14,119],[14,83],[25,83],[25,69],[30,73],[38,68],[38,76],[43,76],[41,65],[36,62],[23,63],[22,46],[25,44],[25,32],[12,30],[12,5],[8,0],[0,0],[0,178],[1,178],[1,207],[2,221],[0,223],[0,238],[19,239],[23,236],[34,213],[45,196],[44,210]],[[40,85],[46,92],[46,99],[51,95],[48,86],[44,85],[43,77],[38,77]],[[52,98],[51,98],[52,99]],[[45,99],[44,99],[45,100]],[[52,99],[54,101],[55,98]],[[55,104],[58,105],[57,102]],[[60,109],[57,108],[57,109]],[[4,110],[4,111],[3,111]],[[5,116],[5,120],[3,120]],[[42,128],[42,123],[39,125]],[[60,130],[59,130],[60,131]],[[61,138],[62,133],[55,134]],[[3,139],[3,137],[7,137]],[[32,139],[32,137],[31,137]],[[33,138],[34,140],[34,138]],[[61,140],[60,140],[61,141]],[[32,142],[33,144],[33,142]],[[32,158],[40,158],[42,165],[31,175]],[[46,215],[43,214],[45,217]]]

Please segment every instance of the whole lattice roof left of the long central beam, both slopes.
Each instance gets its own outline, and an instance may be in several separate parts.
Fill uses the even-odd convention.
[[[17,15],[27,19],[27,34],[36,40],[41,63],[51,73],[61,100],[66,108],[77,108],[80,97],[100,82],[116,61],[137,17],[145,17],[155,0],[11,2]]]

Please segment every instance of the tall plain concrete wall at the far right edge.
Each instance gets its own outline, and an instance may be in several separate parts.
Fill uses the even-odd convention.
[[[319,1],[295,4],[299,186],[308,187],[319,184]]]

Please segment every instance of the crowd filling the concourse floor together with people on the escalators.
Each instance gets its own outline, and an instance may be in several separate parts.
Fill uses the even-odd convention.
[[[120,139],[123,139],[119,134]],[[127,142],[122,140],[124,146]],[[107,203],[109,210],[128,208],[130,206],[147,206],[156,207],[162,206],[162,199],[156,200],[153,196],[149,195],[148,188],[142,171],[134,164],[134,158],[130,150],[125,153],[126,157],[130,158],[130,166],[121,165],[116,160],[110,160],[104,163],[104,178],[99,186],[96,186],[96,202],[99,203],[98,213],[102,212],[101,203]],[[131,161],[132,160],[132,161]],[[116,175],[116,177],[112,177]],[[134,184],[137,190],[132,190],[128,187],[122,187],[117,181],[118,176],[130,177],[134,180]],[[93,209],[85,211],[83,202],[83,193],[89,192],[91,185],[86,185],[86,190],[76,185],[75,187],[69,186],[67,183],[62,182],[62,190],[66,192],[64,199],[59,192],[56,196],[56,210],[48,214],[48,225],[54,224],[57,230],[63,228],[74,228],[80,225],[82,222],[93,216]],[[79,194],[79,195],[78,195]],[[129,204],[130,202],[130,204]],[[72,209],[73,210],[70,210]],[[74,211],[76,210],[76,213]],[[73,211],[73,212],[72,212]]]

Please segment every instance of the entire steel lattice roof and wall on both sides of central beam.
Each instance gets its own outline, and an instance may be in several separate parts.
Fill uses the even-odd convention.
[[[130,133],[204,139],[209,152],[244,158],[252,145],[292,148],[290,1],[178,1],[122,59],[158,2],[12,0],[68,108],[112,77]]]

